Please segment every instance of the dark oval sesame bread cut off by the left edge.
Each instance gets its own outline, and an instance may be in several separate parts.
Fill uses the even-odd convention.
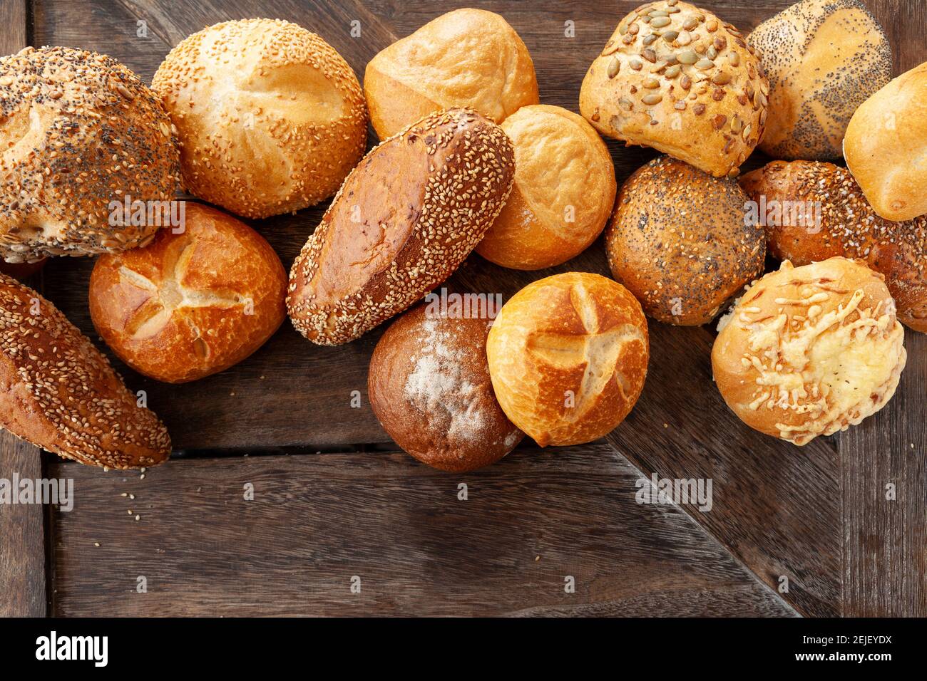
[[[153,411],[50,302],[0,274],[0,426],[95,466],[138,468],[171,455]]]

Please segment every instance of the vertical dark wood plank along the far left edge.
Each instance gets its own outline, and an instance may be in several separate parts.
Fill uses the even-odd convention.
[[[0,55],[29,44],[25,0],[0,2]],[[0,478],[42,477],[39,448],[0,429]],[[0,504],[0,617],[45,614],[44,508]]]

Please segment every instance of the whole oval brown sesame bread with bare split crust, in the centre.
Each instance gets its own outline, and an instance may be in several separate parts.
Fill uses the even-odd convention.
[[[483,238],[513,177],[512,143],[473,109],[432,114],[376,146],[293,263],[293,326],[338,345],[411,306]]]

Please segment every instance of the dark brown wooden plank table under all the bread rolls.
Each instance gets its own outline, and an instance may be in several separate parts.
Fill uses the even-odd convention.
[[[590,61],[637,4],[463,5],[501,13],[534,57],[542,101],[576,111]],[[867,4],[891,36],[895,73],[927,59],[923,3]],[[362,76],[377,51],[457,5],[0,0],[0,53],[83,47],[150,82],[187,34],[273,17],[320,33]],[[790,2],[705,5],[746,32]],[[568,21],[575,37],[565,35]],[[654,156],[609,147],[619,183]],[[765,160],[757,154],[748,168]],[[323,209],[251,224],[288,266]],[[33,284],[98,341],[86,303],[92,265],[57,259]],[[511,296],[570,270],[607,272],[601,241],[536,273],[475,255],[449,286]],[[69,477],[76,497],[70,512],[0,506],[0,614],[927,614],[927,336],[908,332],[908,368],[887,408],[796,448],[756,434],[725,407],[711,378],[713,329],[651,321],[650,332],[641,401],[605,440],[544,450],[527,443],[467,474],[416,463],[376,422],[366,372],[382,329],[324,348],[286,323],[245,362],[182,386],[114,359],[133,390],[147,391],[177,452],[143,479],[0,434],[0,477]],[[351,407],[355,390],[360,408]],[[638,504],[636,482],[651,473],[711,478],[713,509]],[[885,498],[889,484],[895,500]]]

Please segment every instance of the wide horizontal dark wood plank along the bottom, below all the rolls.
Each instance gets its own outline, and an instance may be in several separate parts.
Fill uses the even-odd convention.
[[[638,504],[604,444],[465,475],[386,452],[52,470],[78,499],[56,512],[57,615],[794,614],[679,508]]]

